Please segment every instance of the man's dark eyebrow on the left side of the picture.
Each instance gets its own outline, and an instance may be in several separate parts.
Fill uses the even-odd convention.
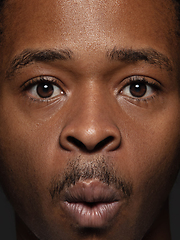
[[[20,68],[23,68],[34,62],[53,62],[56,60],[70,60],[72,59],[73,52],[67,49],[45,49],[45,50],[32,50],[26,49],[10,63],[10,67],[7,70],[7,76],[13,76],[13,74]]]

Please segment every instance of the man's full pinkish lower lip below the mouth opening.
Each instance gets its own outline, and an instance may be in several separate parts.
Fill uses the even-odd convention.
[[[119,205],[119,202],[94,205],[64,202],[65,209],[73,220],[80,227],[88,228],[102,228],[109,225],[118,213]]]

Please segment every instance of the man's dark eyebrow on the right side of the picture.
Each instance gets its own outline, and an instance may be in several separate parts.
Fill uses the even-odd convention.
[[[107,57],[110,61],[121,61],[126,63],[136,63],[144,61],[148,64],[158,66],[159,68],[165,68],[167,71],[172,71],[173,67],[170,59],[161,52],[152,48],[142,49],[117,49],[107,52]]]

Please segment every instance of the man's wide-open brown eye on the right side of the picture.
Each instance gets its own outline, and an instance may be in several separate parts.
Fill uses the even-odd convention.
[[[133,81],[126,85],[121,93],[133,98],[148,98],[154,93],[154,88],[145,81]]]

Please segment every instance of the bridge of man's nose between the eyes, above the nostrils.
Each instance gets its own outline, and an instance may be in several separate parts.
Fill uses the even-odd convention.
[[[87,132],[93,132],[95,128],[98,130],[99,125],[102,126],[104,122],[110,121],[110,101],[106,87],[98,81],[86,81],[79,87],[72,108],[71,124],[76,125],[77,128],[81,125]]]

